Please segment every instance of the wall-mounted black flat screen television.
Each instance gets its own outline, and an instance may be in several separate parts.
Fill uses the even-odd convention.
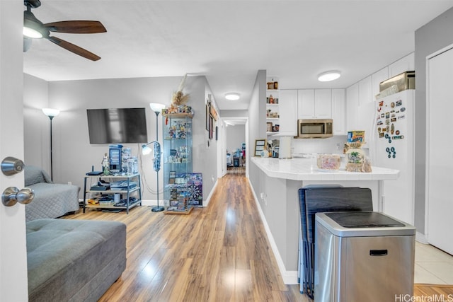
[[[90,144],[147,143],[144,108],[87,109]]]

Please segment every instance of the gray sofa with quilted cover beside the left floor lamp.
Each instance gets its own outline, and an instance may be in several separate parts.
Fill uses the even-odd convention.
[[[57,218],[79,210],[79,186],[54,183],[33,165],[25,165],[24,173],[25,187],[35,192],[33,201],[25,205],[25,221]]]

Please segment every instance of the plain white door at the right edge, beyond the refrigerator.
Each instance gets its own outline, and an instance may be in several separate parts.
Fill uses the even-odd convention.
[[[453,49],[428,60],[428,242],[453,254],[452,132]]]

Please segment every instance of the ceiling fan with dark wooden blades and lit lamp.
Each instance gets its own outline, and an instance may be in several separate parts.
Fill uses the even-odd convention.
[[[83,48],[69,43],[50,35],[50,32],[55,33],[105,33],[104,25],[99,21],[58,21],[52,23],[42,23],[38,18],[33,15],[31,8],[38,8],[41,6],[40,0],[24,0],[24,5],[27,10],[23,12],[23,35],[24,35],[24,51],[29,47],[30,38],[45,38],[54,42],[56,45],[63,47],[65,50],[79,54],[81,57],[97,61],[101,57],[88,52]],[[28,40],[27,42],[25,40]],[[28,46],[25,46],[28,44]]]

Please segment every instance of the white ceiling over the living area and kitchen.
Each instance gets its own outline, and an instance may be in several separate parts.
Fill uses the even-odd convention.
[[[33,40],[23,55],[25,73],[46,81],[205,75],[220,110],[248,108],[259,69],[276,76],[280,88],[348,87],[413,52],[414,31],[453,6],[453,0],[41,3],[33,13],[43,23],[101,21],[107,33],[55,36],[102,59]],[[342,77],[316,81],[331,69]],[[241,100],[225,100],[230,91]]]

